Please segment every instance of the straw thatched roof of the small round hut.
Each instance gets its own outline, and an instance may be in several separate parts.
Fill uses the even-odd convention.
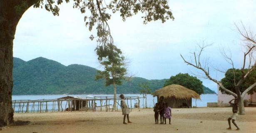
[[[165,86],[162,89],[158,89],[152,93],[153,96],[164,96],[167,97],[175,97],[176,99],[200,99],[200,95],[195,91],[187,89],[184,86],[179,84],[172,84],[169,86]]]

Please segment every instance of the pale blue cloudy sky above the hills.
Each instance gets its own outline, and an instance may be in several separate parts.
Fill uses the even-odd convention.
[[[143,24],[142,14],[122,21],[119,13],[112,14],[109,25],[114,43],[129,60],[129,74],[146,79],[169,79],[178,73],[199,74],[180,57],[190,60],[197,44],[213,43],[202,54],[209,59],[210,74],[220,80],[224,77],[213,68],[231,68],[219,49],[231,55],[236,68],[241,68],[243,47],[234,23],[256,33],[256,0],[169,0],[175,20]],[[52,59],[66,66],[83,64],[101,69],[94,49],[97,42],[89,36],[96,34],[85,27],[84,15],[63,3],[60,16],[45,9],[30,7],[17,25],[13,56],[29,61],[37,57]],[[208,79],[203,84],[217,91],[217,85]]]

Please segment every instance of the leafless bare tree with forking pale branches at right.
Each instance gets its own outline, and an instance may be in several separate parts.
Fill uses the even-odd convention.
[[[196,69],[199,69],[200,71],[203,72],[204,77],[206,79],[209,79],[211,81],[214,81],[216,84],[218,84],[220,86],[220,88],[233,95],[236,99],[238,99],[239,101],[239,114],[245,114],[245,110],[244,110],[244,96],[256,86],[256,82],[254,84],[251,84],[251,86],[249,86],[247,89],[245,89],[245,91],[243,93],[241,93],[241,91],[239,90],[240,86],[244,83],[244,81],[246,80],[246,77],[251,73],[251,71],[253,71],[255,69],[256,66],[256,60],[255,60],[255,56],[254,56],[254,51],[256,48],[256,34],[253,34],[253,32],[251,30],[248,30],[245,28],[245,26],[243,25],[243,23],[241,22],[242,26],[241,28],[239,28],[236,24],[236,30],[238,31],[238,33],[241,35],[242,37],[242,41],[244,42],[243,47],[244,47],[244,55],[242,57],[243,59],[243,64],[241,64],[241,71],[242,71],[242,76],[241,79],[236,83],[234,82],[234,86],[235,86],[235,91],[236,93],[226,89],[220,81],[214,79],[210,73],[209,73],[209,66],[208,66],[208,60],[206,60],[206,62],[204,62],[204,65],[201,65],[202,62],[200,60],[201,58],[201,54],[204,51],[204,49],[206,47],[208,47],[209,45],[205,44],[203,42],[202,45],[199,45],[200,51],[199,54],[196,54],[196,52],[192,53],[193,57],[194,57],[194,61],[190,61],[188,62],[181,54],[181,58],[184,60],[184,62],[188,65],[194,66]],[[224,57],[224,59],[231,64],[232,68],[234,69],[234,62],[231,59],[231,55],[226,54],[226,52],[223,51],[221,52],[221,55]],[[234,81],[236,81],[236,75],[235,72],[234,73]]]

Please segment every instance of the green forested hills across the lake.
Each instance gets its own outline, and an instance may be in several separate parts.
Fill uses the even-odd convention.
[[[13,95],[22,94],[112,94],[113,87],[104,86],[104,81],[95,81],[97,69],[38,57],[28,62],[13,57]],[[167,79],[148,80],[134,77],[117,86],[117,94],[138,94],[139,83],[149,82],[152,92],[162,88]],[[214,91],[204,87],[204,92]]]

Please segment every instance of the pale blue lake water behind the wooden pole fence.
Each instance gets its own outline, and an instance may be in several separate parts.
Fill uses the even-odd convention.
[[[12,96],[12,100],[38,100],[38,99],[57,99],[60,97],[64,97],[67,95],[13,95]],[[69,95],[69,96],[113,96],[113,95]],[[119,95],[117,95],[119,96]],[[125,94],[125,96],[139,96],[139,97],[143,97],[140,94]],[[201,95],[201,100],[195,100],[192,99],[192,106],[197,106],[197,107],[205,107],[207,106],[208,102],[217,102],[218,101],[218,96],[216,94],[204,94]],[[130,102],[130,101],[128,101]],[[132,106],[134,106],[134,103],[137,103],[138,100],[132,100]],[[143,107],[143,99],[140,99],[140,107]],[[147,95],[147,107],[153,107],[154,103],[157,102],[157,97],[153,97],[152,95]],[[97,105],[100,105],[99,101],[96,101]],[[144,99],[144,103],[145,103],[145,99]],[[14,103],[12,103],[14,106]],[[56,103],[57,104],[57,103]],[[62,102],[62,107],[64,107],[66,104],[66,102]],[[113,101],[110,101],[110,104],[113,104]],[[130,106],[130,103],[128,103]],[[49,102],[47,103],[48,106],[48,110],[52,110],[52,106],[53,103]],[[37,110],[38,107],[38,103],[35,103],[35,110]],[[57,106],[56,106],[57,107]],[[15,112],[18,111],[19,105],[16,104],[15,105]],[[26,108],[26,105],[24,106],[24,110]],[[29,109],[31,111],[32,109],[32,103],[30,103]],[[43,108],[45,110],[45,107]]]

